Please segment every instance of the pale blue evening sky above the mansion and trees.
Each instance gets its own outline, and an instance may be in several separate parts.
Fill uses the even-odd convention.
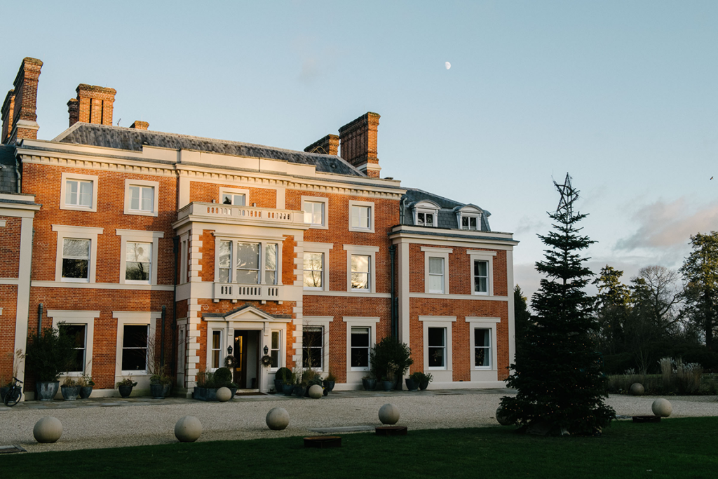
[[[381,175],[490,211],[528,297],[567,172],[595,273],[718,230],[716,1],[7,3],[0,88],[44,62],[39,139],[80,83],[120,126],[298,150],[374,111]]]

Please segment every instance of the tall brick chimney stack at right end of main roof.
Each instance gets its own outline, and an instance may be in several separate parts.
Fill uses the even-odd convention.
[[[376,155],[379,118],[378,113],[368,112],[339,129],[341,157],[372,178],[381,171]]]

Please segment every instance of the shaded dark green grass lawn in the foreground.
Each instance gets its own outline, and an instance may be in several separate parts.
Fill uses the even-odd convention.
[[[512,427],[345,434],[0,456],[3,478],[716,478],[718,417],[614,422],[602,437],[533,437]]]

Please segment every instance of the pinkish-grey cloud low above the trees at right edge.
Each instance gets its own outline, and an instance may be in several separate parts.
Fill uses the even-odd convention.
[[[718,203],[696,208],[683,197],[671,203],[658,200],[640,208],[633,220],[638,229],[617,241],[617,250],[671,249],[686,245],[691,235],[718,230]]]

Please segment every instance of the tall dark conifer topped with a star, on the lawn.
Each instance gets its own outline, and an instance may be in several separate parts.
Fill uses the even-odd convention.
[[[586,215],[574,213],[578,191],[571,177],[567,174],[564,185],[554,185],[561,195],[556,213],[549,213],[554,231],[539,235],[548,249],[544,261],[536,263],[546,277],[533,294],[536,314],[528,324],[523,352],[511,365],[508,386],[518,393],[505,396],[501,407],[523,430],[596,434],[615,412],[603,402],[605,376],[592,340],[597,330],[594,299],[584,292],[592,273],[581,251],[594,241],[579,235],[582,228],[576,225]]]

